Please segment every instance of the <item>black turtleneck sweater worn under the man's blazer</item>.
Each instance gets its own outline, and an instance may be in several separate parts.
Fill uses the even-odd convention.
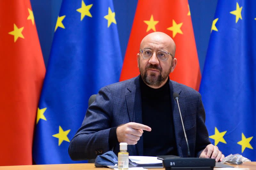
[[[152,129],[143,133],[144,156],[177,155],[169,81],[153,89],[140,77],[142,124]]]

